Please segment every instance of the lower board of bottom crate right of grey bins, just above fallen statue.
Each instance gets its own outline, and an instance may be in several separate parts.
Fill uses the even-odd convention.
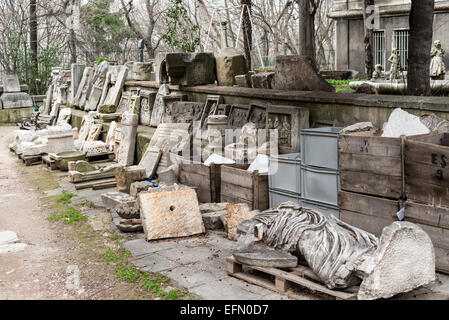
[[[394,220],[393,218],[384,219],[346,210],[340,210],[340,220],[378,237],[382,234],[385,227],[397,221],[397,219]]]

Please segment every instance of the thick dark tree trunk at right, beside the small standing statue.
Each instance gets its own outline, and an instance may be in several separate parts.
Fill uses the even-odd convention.
[[[412,0],[407,92],[428,96],[430,90],[430,51],[433,37],[434,0]]]

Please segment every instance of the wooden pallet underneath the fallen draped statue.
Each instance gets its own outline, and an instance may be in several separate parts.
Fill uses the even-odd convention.
[[[304,287],[312,292],[325,294],[331,296],[336,300],[356,300],[358,287],[352,287],[345,291],[331,290],[326,286],[317,283],[318,277],[312,272],[311,269],[298,266],[297,268],[277,269],[277,268],[262,268],[248,266],[237,262],[233,257],[226,259],[227,272],[230,276],[237,279],[246,281],[248,283],[263,287],[268,290],[275,291],[277,293],[288,296],[291,299],[302,300],[298,293],[291,290],[292,284]],[[274,277],[274,281],[267,279],[266,277],[258,276],[252,273],[248,273],[243,270],[243,267],[259,271],[265,275]]]

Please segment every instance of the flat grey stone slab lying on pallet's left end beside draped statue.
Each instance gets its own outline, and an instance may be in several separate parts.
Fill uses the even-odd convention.
[[[262,268],[296,268],[298,258],[279,250],[263,250],[255,252],[236,252],[234,258],[237,262]]]

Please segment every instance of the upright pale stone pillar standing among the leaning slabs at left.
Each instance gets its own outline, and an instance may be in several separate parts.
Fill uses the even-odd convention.
[[[134,163],[134,152],[136,150],[137,126],[139,116],[125,111],[122,116],[122,137],[118,153],[118,163],[122,166],[132,166]]]

